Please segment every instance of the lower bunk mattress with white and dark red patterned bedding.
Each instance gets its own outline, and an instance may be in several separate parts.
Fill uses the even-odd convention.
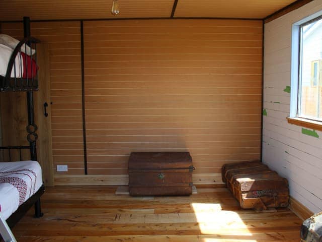
[[[0,162],[0,211],[4,219],[41,186],[41,167],[37,161]]]

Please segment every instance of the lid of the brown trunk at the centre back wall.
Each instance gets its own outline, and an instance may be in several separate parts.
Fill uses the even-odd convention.
[[[189,152],[132,152],[129,169],[191,169]]]

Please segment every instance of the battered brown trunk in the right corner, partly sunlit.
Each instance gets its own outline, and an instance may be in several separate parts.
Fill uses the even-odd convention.
[[[260,161],[226,164],[222,180],[242,208],[287,207],[289,190],[287,179],[280,177]]]

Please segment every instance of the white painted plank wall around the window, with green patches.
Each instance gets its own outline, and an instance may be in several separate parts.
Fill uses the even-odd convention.
[[[263,162],[288,178],[290,195],[312,212],[322,210],[322,132],[319,138],[302,134],[287,123],[290,94],[292,24],[322,10],[322,1],[265,24]]]

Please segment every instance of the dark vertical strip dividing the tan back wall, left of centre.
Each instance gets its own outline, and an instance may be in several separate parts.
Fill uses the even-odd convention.
[[[87,175],[86,118],[85,118],[85,72],[84,72],[84,22],[81,21],[81,55],[82,55],[82,113],[84,139],[84,171]]]

